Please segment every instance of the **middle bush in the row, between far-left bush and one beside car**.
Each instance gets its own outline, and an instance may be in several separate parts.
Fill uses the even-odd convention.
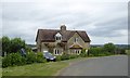
[[[37,55],[34,52],[28,52],[26,54],[26,63],[31,64],[31,63],[35,63],[35,62],[37,62]]]

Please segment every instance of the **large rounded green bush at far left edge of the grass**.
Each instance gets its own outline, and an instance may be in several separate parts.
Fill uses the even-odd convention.
[[[26,64],[26,60],[20,53],[11,53],[2,58],[2,67],[24,64]]]

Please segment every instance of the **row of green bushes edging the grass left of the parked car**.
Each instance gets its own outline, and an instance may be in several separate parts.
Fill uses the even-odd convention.
[[[2,58],[2,67],[44,62],[47,62],[47,60],[43,57],[41,52],[38,52],[37,54],[34,52],[28,52],[26,56],[22,56],[20,53],[10,53]]]

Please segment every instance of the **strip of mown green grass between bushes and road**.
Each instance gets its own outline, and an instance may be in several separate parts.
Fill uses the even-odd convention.
[[[86,58],[79,57],[62,62],[49,62],[24,66],[6,67],[2,69],[2,76],[55,76],[62,68],[65,68],[70,63]]]

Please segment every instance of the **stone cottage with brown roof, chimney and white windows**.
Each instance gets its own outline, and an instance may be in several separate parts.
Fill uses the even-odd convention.
[[[80,54],[82,49],[90,48],[90,38],[83,30],[67,30],[65,25],[61,29],[38,29],[38,52],[49,51],[54,55]]]

